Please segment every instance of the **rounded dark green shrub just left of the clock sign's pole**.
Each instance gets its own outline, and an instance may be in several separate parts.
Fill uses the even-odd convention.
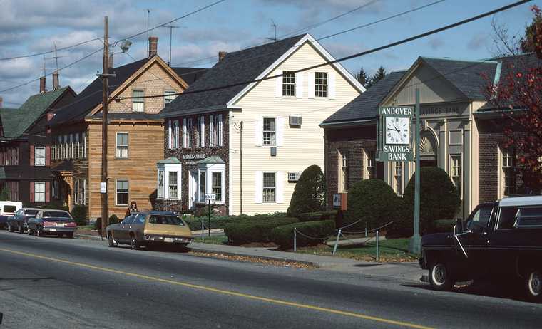
[[[357,182],[348,191],[348,210],[344,211],[341,225],[358,224],[349,231],[362,231],[395,221],[401,207],[400,198],[392,187],[381,179],[365,179]]]

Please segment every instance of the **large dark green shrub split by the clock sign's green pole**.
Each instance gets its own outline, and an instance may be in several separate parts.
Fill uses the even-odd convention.
[[[387,237],[412,236],[414,231],[414,174],[404,190],[402,216],[394,222]],[[444,169],[422,167],[420,169],[420,234],[437,230],[434,221],[453,220],[461,199],[454,183]]]

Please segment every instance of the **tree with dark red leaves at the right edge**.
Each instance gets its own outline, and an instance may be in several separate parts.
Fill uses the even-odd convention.
[[[533,23],[526,28],[521,49],[536,53],[542,59],[542,13],[532,6]],[[487,87],[488,101],[498,108],[509,109],[503,116],[506,125],[505,147],[518,150],[523,183],[536,192],[542,190],[542,66],[518,63],[510,73]]]

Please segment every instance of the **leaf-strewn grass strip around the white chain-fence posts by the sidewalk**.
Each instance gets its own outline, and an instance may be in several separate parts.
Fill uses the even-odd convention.
[[[319,244],[297,249],[298,253],[332,256],[333,246]],[[358,244],[354,246],[338,246],[335,256],[352,258],[360,261],[376,261],[377,244]],[[379,261],[399,262],[417,261],[418,255],[409,254],[409,239],[393,239],[379,241]]]

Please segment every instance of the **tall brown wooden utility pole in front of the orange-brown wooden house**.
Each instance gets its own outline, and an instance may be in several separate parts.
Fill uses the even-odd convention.
[[[102,74],[98,77],[102,78],[102,177],[100,183],[101,192],[101,236],[106,236],[106,227],[109,224],[108,217],[108,190],[107,190],[107,113],[108,113],[108,78],[114,77],[115,74],[109,73],[109,43],[108,43],[108,16],[103,18],[103,68]]]

